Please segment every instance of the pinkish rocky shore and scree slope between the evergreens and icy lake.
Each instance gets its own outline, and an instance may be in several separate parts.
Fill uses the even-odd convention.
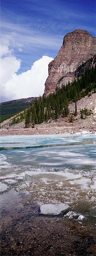
[[[69,105],[70,114],[68,117],[35,125],[34,128],[25,128],[25,123],[20,122],[9,126],[10,119],[1,123],[0,135],[40,135],[40,134],[62,134],[62,133],[82,133],[84,131],[96,132],[96,94],[91,94],[90,97],[85,96],[77,102],[77,116],[73,122],[69,122],[69,117],[74,111],[74,102]],[[91,110],[91,115],[85,119],[81,119],[81,109]]]

